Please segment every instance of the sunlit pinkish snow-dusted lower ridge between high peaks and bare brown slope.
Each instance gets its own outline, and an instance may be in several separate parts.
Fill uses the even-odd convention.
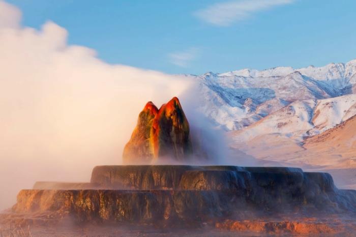
[[[294,101],[261,119],[232,132],[236,142],[275,134],[303,141],[305,137],[334,128],[356,114],[356,94],[322,100]]]

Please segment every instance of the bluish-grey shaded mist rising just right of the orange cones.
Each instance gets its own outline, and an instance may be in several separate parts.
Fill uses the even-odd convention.
[[[240,165],[257,166],[258,161],[238,149],[232,149],[231,139],[226,131],[200,111],[202,100],[200,84],[192,83],[181,97],[181,103],[190,125],[193,144],[193,157],[185,164],[192,165]]]

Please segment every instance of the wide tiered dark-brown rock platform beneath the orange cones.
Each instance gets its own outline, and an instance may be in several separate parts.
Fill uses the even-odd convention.
[[[0,222],[201,226],[272,214],[356,216],[356,191],[337,189],[328,173],[299,168],[97,166],[89,183],[37,182],[21,190]]]

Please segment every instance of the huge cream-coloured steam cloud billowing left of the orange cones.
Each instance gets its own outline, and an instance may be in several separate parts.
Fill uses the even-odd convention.
[[[35,181],[89,181],[95,165],[119,164],[144,104],[160,106],[190,87],[109,65],[93,49],[68,45],[66,29],[53,22],[38,31],[20,20],[0,2],[0,190],[8,194],[0,209]]]

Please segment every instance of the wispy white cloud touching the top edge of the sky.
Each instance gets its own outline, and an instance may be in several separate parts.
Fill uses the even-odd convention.
[[[228,26],[243,20],[255,12],[271,9],[272,7],[291,4],[295,0],[243,0],[218,3],[205,9],[198,10],[195,15],[208,23]]]

